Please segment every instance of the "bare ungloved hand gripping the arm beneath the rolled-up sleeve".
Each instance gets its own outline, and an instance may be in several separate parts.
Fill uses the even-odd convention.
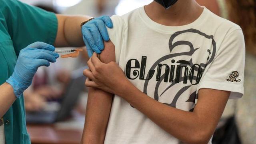
[[[90,69],[84,70],[84,75],[88,77],[85,82],[88,87],[120,94],[130,83],[123,70],[115,62],[104,64],[96,53],[93,53],[87,64]]]

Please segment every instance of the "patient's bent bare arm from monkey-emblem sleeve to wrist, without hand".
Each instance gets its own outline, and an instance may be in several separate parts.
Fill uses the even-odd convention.
[[[209,142],[230,95],[227,91],[201,89],[194,111],[187,112],[162,104],[134,86],[123,90],[121,97],[166,132],[188,144]]]

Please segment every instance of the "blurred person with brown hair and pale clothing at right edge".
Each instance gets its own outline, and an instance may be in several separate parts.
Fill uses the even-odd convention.
[[[235,102],[243,144],[256,144],[256,0],[225,0],[228,18],[241,26],[246,42],[244,96]]]

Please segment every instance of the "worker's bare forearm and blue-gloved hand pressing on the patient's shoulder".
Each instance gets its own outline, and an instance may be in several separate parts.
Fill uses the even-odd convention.
[[[58,32],[54,46],[84,46],[86,44],[88,55],[92,52],[100,54],[103,50],[103,40],[108,41],[108,28],[113,24],[108,16],[100,16],[93,21],[88,21],[82,28],[80,24],[89,19],[88,16],[66,16],[56,14],[58,19]]]

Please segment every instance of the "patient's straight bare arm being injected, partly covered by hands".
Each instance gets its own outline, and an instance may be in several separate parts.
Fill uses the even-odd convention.
[[[104,50],[99,55],[102,62],[115,61],[114,44],[104,42]],[[91,61],[91,59],[89,60]],[[91,62],[88,62],[91,64]],[[111,110],[113,94],[97,88],[89,88],[86,119],[81,143],[103,144]]]

